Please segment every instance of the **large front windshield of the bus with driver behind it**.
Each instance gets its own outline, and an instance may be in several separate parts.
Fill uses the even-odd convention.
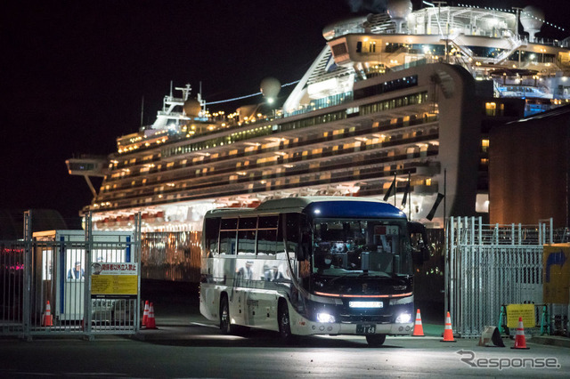
[[[411,275],[411,247],[400,220],[315,220],[312,270],[393,277]]]

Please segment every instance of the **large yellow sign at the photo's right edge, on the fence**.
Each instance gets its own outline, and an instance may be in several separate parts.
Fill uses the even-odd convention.
[[[545,245],[542,253],[542,301],[570,301],[570,244]]]

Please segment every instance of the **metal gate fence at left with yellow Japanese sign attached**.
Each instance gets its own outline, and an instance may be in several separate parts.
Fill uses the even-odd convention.
[[[92,339],[95,335],[136,333],[140,318],[140,216],[135,218],[133,232],[94,233],[89,215],[85,231],[32,234],[30,220],[27,212],[23,240],[0,242],[0,335]],[[131,275],[105,275],[121,273],[121,269]],[[109,286],[104,286],[107,283]],[[124,286],[127,293],[120,288]]]

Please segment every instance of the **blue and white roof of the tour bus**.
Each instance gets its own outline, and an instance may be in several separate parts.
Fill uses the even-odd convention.
[[[277,198],[267,200],[256,208],[220,208],[208,212],[208,216],[236,217],[256,214],[302,212],[312,217],[352,218],[401,218],[406,216],[395,206],[373,198],[346,198],[314,196]]]

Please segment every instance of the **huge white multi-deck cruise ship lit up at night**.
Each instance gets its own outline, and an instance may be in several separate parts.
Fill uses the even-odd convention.
[[[81,212],[96,230],[128,229],[141,213],[147,247],[163,252],[148,270],[199,267],[203,215],[268,198],[386,198],[433,228],[485,217],[489,129],[570,101],[570,39],[544,38],[552,28],[532,6],[409,0],[335,22],[280,109],[213,112],[186,85],[106,164],[69,159],[69,173],[103,177]],[[269,100],[280,84],[261,87]]]

